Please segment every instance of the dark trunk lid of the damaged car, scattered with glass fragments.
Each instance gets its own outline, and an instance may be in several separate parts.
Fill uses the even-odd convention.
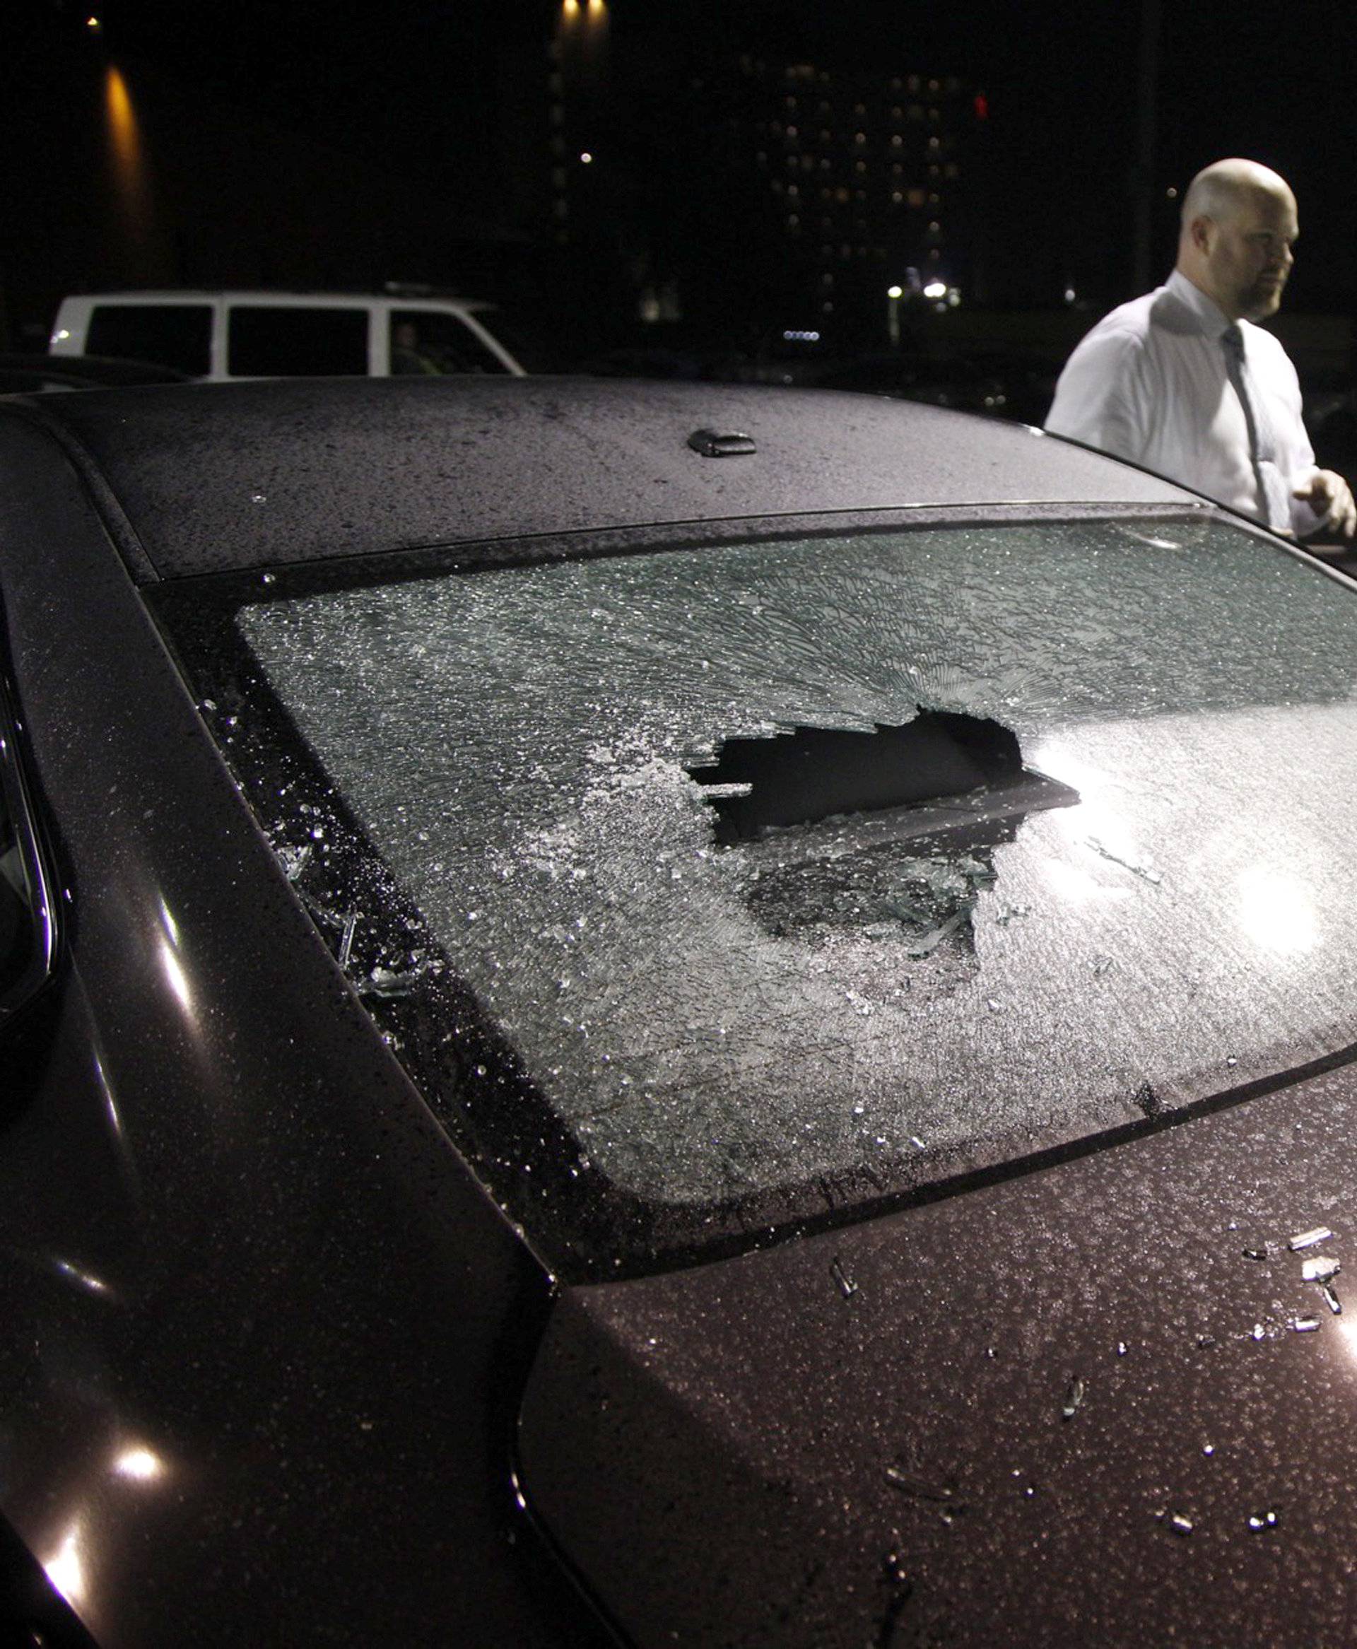
[[[529,1504],[636,1644],[1350,1642],[1354,1121],[1336,1069],[566,1290]]]

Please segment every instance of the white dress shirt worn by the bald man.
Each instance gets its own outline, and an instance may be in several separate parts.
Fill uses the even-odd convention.
[[[1045,427],[1129,458],[1209,498],[1266,521],[1248,450],[1248,424],[1230,384],[1220,336],[1228,320],[1174,270],[1166,285],[1123,303],[1078,343],[1055,386]],[[1314,473],[1301,420],[1296,368],[1278,340],[1238,323],[1253,392],[1266,402],[1276,463],[1291,486]],[[1311,533],[1319,516],[1291,500],[1291,526]]]

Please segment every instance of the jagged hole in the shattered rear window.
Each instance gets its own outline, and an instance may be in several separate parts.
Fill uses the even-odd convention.
[[[717,815],[717,843],[744,861],[765,932],[876,932],[917,958],[970,955],[994,848],[1029,813],[1078,801],[1022,765],[1011,729],[946,711],[871,732],[727,739],[714,763],[688,772]]]

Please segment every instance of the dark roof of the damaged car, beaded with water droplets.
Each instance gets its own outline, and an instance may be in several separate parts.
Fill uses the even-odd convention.
[[[930,505],[1182,505],[1024,425],[871,396],[590,379],[186,384],[23,404],[125,518],[139,577],[417,544]],[[697,430],[757,450],[702,457]]]

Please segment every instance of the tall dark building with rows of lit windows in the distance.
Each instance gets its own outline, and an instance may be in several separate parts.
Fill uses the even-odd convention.
[[[988,110],[955,74],[628,33],[566,0],[547,89],[542,228],[575,269],[620,269],[636,318],[884,343],[892,289],[984,295]]]

